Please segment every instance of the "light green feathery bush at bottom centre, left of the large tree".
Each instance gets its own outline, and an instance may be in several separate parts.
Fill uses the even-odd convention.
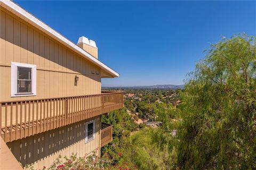
[[[172,153],[164,152],[154,144],[157,133],[158,129],[152,128],[134,132],[125,142],[119,163],[133,163],[138,169],[170,169],[173,166],[170,162]]]

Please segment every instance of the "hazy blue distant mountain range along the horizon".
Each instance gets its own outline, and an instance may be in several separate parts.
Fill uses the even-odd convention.
[[[118,86],[118,87],[102,87],[102,88],[125,88],[125,89],[183,89],[184,84],[173,85],[173,84],[161,84],[153,86]]]

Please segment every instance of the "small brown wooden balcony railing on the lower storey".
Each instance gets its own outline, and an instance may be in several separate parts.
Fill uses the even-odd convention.
[[[100,147],[107,145],[112,140],[112,125],[101,123]]]

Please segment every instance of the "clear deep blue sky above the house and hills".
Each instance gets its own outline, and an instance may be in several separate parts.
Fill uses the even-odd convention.
[[[222,36],[256,35],[256,2],[17,1],[74,43],[95,40],[121,77],[102,86],[183,84]]]

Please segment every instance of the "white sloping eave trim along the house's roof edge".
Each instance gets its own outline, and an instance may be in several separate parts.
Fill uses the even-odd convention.
[[[48,25],[46,25],[42,21],[35,18],[35,16],[33,16],[30,13],[28,13],[27,11],[23,10],[23,8],[21,8],[19,5],[15,4],[14,2],[12,2],[10,0],[0,0],[0,3],[1,3],[1,6],[6,8],[8,11],[11,11],[15,15],[19,16],[21,19],[23,19],[23,20],[27,21],[28,23],[32,24],[37,29],[45,32],[47,35],[50,35],[54,39],[60,41],[60,43],[67,46],[68,48],[73,49],[76,53],[82,55],[87,60],[91,61],[92,63],[94,63],[96,65],[98,65],[99,67],[101,67],[101,69],[103,69],[104,71],[106,71],[107,73],[112,75],[113,77],[119,77],[119,74],[117,72],[110,69],[110,67],[108,67],[107,65],[105,65],[102,62],[100,62],[99,60],[97,60],[97,58],[93,57],[91,54],[85,52],[85,50],[78,47],[77,45],[72,43],[67,38],[60,35],[60,33],[53,30],[52,28],[50,28]]]

